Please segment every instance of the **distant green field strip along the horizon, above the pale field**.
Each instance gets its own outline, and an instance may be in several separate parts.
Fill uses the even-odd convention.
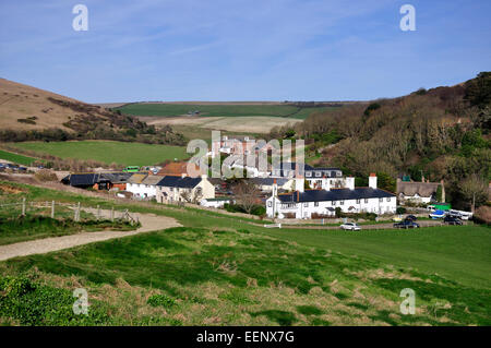
[[[202,117],[291,117],[306,119],[313,112],[334,110],[337,107],[297,108],[290,105],[190,105],[190,104],[130,104],[116,108],[134,116],[181,116],[189,111],[201,111]]]

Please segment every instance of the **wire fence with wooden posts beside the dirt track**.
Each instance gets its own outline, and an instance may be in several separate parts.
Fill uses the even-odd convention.
[[[81,203],[64,203],[56,201],[27,201],[25,197],[20,202],[0,204],[1,215],[9,217],[23,217],[27,214],[49,215],[51,218],[71,217],[74,221],[80,221],[82,214],[85,218],[95,217],[95,219],[122,219],[133,224],[139,223],[136,215],[130,214],[128,209],[116,211],[101,209],[99,205],[96,207],[81,206]]]

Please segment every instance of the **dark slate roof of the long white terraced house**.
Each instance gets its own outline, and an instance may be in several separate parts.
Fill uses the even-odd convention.
[[[306,190],[306,192],[279,194],[278,199],[282,202],[324,202],[324,201],[348,201],[348,200],[363,200],[363,199],[382,199],[394,197],[395,194],[371,188],[356,188],[350,189],[332,189],[326,190]]]

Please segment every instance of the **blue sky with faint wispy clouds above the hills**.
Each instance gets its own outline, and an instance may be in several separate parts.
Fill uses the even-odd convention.
[[[88,31],[72,8],[88,8]],[[399,8],[416,8],[416,32]],[[491,70],[491,1],[0,0],[0,76],[87,103],[355,100]]]

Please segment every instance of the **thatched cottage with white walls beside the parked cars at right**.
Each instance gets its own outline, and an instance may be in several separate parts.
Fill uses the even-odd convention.
[[[424,180],[424,178],[422,179]],[[441,182],[429,181],[403,181],[397,179],[397,196],[400,202],[431,203],[438,201],[436,191],[442,188],[441,201],[445,202],[445,187],[443,180]]]

